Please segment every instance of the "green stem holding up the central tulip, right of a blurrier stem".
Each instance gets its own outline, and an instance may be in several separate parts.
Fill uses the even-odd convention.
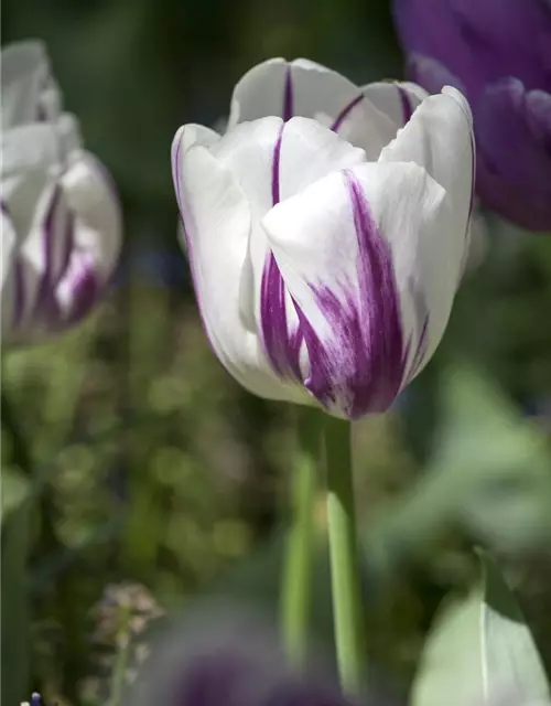
[[[325,453],[337,664],[343,691],[357,694],[364,681],[366,651],[348,422],[326,418]]]

